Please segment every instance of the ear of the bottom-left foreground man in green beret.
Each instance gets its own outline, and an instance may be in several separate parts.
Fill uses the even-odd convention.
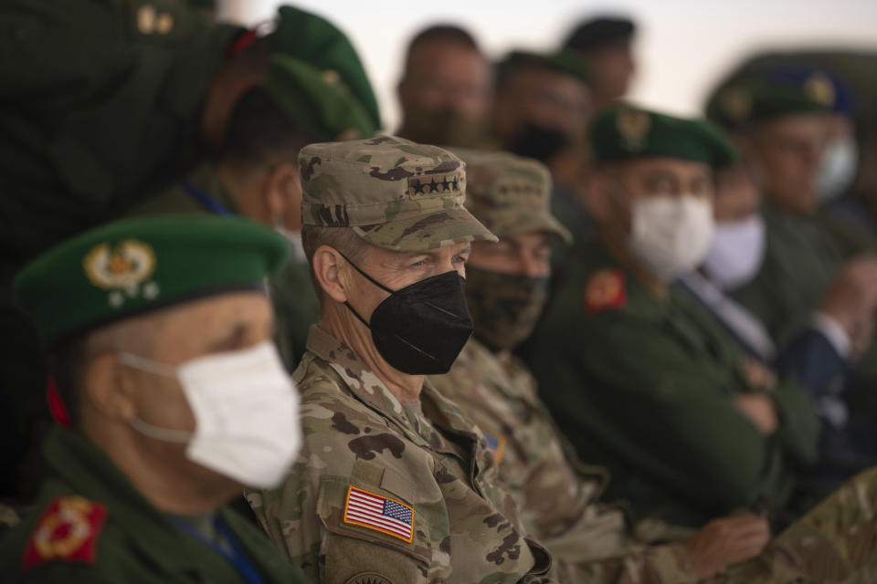
[[[137,415],[133,394],[132,378],[124,374],[115,354],[104,353],[90,360],[82,376],[83,405],[111,420],[130,422]]]

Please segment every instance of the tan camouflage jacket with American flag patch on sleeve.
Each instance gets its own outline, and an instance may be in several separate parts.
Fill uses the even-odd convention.
[[[327,584],[550,582],[483,436],[428,383],[396,400],[312,327],[294,374],[304,445],[279,488],[248,494],[269,537]],[[419,407],[418,407],[419,406]]]

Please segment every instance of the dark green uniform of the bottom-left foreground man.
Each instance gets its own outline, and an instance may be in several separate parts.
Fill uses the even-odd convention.
[[[143,498],[82,436],[55,428],[46,441],[54,477],[24,523],[0,539],[4,582],[304,582],[259,529],[230,509],[213,520],[224,557]],[[245,559],[242,559],[245,558]],[[244,568],[246,569],[246,568]]]

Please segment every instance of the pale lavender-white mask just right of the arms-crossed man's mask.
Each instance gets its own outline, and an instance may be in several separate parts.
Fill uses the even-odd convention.
[[[733,290],[755,277],[765,258],[765,221],[754,214],[715,226],[703,272],[717,287]]]

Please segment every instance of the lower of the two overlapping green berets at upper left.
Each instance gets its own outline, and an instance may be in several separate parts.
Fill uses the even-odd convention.
[[[337,76],[327,76],[301,59],[271,57],[261,87],[316,141],[368,138],[378,130]]]

